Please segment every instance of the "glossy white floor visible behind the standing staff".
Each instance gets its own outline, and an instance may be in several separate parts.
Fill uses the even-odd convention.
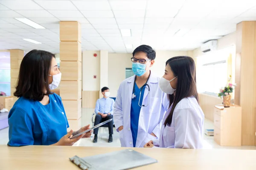
[[[90,124],[91,115],[93,109],[83,109],[82,111],[82,125]],[[204,129],[213,129],[213,122],[205,119]],[[8,142],[8,128],[0,130],[0,144],[7,144]],[[93,143],[93,137],[87,139],[80,139],[79,142],[76,142],[74,146],[95,146],[95,147],[120,147],[119,134],[116,132],[116,129],[113,129],[113,142],[108,143],[108,127],[100,127],[98,134],[98,142]],[[247,150],[256,150],[256,146],[241,146],[241,147],[222,147],[219,146],[213,140],[213,136],[204,135],[204,149],[247,149]]]

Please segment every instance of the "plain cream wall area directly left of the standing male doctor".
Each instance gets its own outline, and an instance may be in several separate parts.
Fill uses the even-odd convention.
[[[116,97],[120,83],[125,79],[125,68],[131,68],[132,54],[108,53],[108,88]]]

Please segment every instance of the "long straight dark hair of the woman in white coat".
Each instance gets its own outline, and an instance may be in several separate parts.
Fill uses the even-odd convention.
[[[194,96],[198,99],[195,77],[195,62],[191,57],[178,56],[170,58],[166,61],[166,65],[171,67],[174,76],[177,76],[177,88],[174,94],[168,94],[170,107],[172,109],[164,122],[164,125],[170,126],[172,123],[172,116],[174,109],[180,100]]]

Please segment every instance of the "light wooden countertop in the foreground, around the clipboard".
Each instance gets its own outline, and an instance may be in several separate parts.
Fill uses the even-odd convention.
[[[122,149],[125,148],[0,145],[0,170],[79,170],[69,161],[70,157],[93,156]],[[135,168],[140,170],[256,169],[256,150],[132,149],[158,160],[156,164]]]

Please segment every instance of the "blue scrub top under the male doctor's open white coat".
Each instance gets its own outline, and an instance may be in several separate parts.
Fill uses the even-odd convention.
[[[139,99],[140,99],[140,105],[142,105],[144,91],[145,91],[145,88],[143,88],[140,96],[141,88],[139,88],[135,83],[134,93],[136,97],[134,99],[131,99],[131,134],[132,134],[134,147],[136,146],[136,141],[137,141],[138,125],[139,125],[140,109],[141,109],[141,107],[139,106]]]

